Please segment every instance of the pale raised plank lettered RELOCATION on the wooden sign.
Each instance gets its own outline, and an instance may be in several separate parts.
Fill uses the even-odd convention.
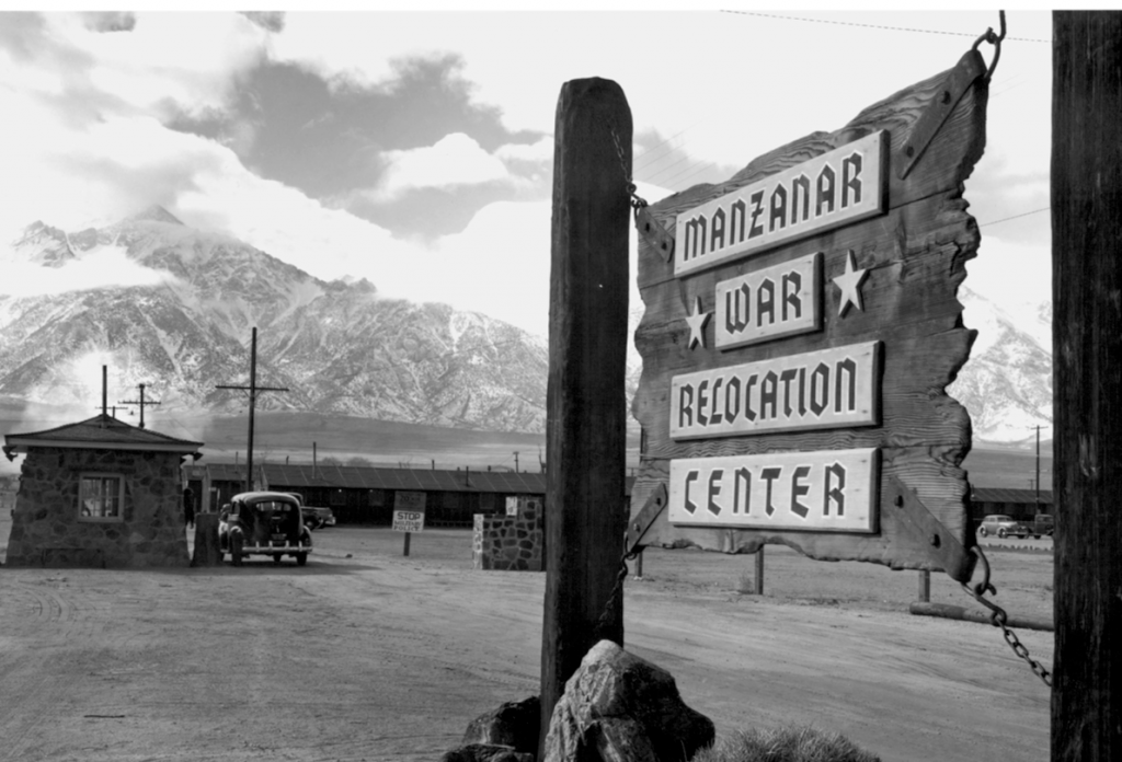
[[[696,439],[880,422],[881,343],[675,375],[670,436]]]

